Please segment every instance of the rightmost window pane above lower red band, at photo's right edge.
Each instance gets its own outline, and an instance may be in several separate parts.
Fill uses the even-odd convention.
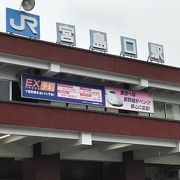
[[[166,104],[167,119],[180,120],[180,106],[177,104]]]

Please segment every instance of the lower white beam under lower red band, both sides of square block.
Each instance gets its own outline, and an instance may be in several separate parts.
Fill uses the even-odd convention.
[[[82,132],[0,125],[0,133],[21,135],[21,136],[36,136],[36,137],[79,140],[80,139],[79,133]],[[102,134],[91,133],[91,135],[92,135],[92,141],[98,141],[98,142],[124,143],[124,144],[136,144],[136,145],[147,145],[147,146],[173,147],[173,148],[177,147],[177,141],[175,140],[134,137],[134,136],[120,136],[120,135],[112,135],[105,133]]]

